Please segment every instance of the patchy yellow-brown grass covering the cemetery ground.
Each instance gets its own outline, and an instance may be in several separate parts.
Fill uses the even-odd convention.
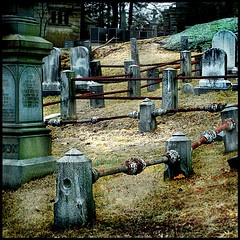
[[[146,46],[149,51],[146,51]],[[179,58],[154,43],[141,41],[141,63],[165,62]],[[119,46],[117,46],[119,48]],[[114,45],[100,48],[109,51]],[[104,55],[104,54],[103,54]],[[122,64],[128,48],[112,51],[100,58],[102,64]],[[103,69],[103,74],[122,70]],[[115,72],[114,72],[115,71]],[[193,84],[196,84],[193,80]],[[181,93],[179,107],[206,106],[212,103],[237,103],[231,90],[202,95]],[[126,83],[105,84],[104,90],[120,90]],[[117,96],[120,96],[118,94]],[[122,94],[124,96],[124,94]],[[142,89],[142,96],[161,96]],[[58,100],[44,98],[44,102]],[[90,108],[89,100],[77,100],[78,119],[109,117],[139,110],[138,100],[105,100],[104,108]],[[154,101],[161,107],[161,101]],[[44,107],[44,115],[60,111],[59,104]],[[220,113],[188,112],[157,117],[153,132],[138,132],[137,119],[116,119],[95,124],[48,126],[52,130],[52,154],[61,158],[77,148],[92,160],[94,168],[119,166],[131,157],[155,160],[165,153],[166,140],[182,131],[195,142],[204,130],[221,125]],[[4,238],[237,238],[238,174],[230,171],[227,160],[238,151],[226,153],[223,142],[202,145],[193,151],[194,174],[187,179],[163,181],[164,165],[147,167],[141,174],[122,173],[102,177],[93,184],[96,219],[86,227],[65,230],[54,228],[56,175],[50,174],[22,185],[18,190],[2,190],[2,234]]]

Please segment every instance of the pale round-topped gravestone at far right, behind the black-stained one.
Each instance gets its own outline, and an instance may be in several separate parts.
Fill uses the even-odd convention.
[[[220,48],[227,54],[227,71],[232,72],[237,60],[237,37],[229,30],[218,31],[212,39],[212,47]]]

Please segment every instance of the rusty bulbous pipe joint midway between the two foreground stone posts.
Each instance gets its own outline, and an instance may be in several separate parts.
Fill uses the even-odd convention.
[[[146,162],[141,158],[131,158],[124,164],[127,167],[124,173],[128,175],[137,175],[141,173],[147,166]]]

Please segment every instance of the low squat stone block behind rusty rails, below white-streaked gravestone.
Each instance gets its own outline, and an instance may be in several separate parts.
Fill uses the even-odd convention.
[[[93,93],[103,93],[103,84],[97,83],[97,82],[91,82],[88,84],[89,86],[89,91]],[[90,99],[90,107],[92,108],[100,108],[100,107],[105,107],[104,103],[104,95],[102,96],[97,96],[94,99]]]

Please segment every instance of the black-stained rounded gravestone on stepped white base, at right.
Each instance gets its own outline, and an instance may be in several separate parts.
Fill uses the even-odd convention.
[[[227,54],[220,48],[211,48],[202,55],[202,76],[225,76],[227,74]],[[204,78],[194,94],[207,93],[211,90],[227,90],[231,82],[224,78]]]

